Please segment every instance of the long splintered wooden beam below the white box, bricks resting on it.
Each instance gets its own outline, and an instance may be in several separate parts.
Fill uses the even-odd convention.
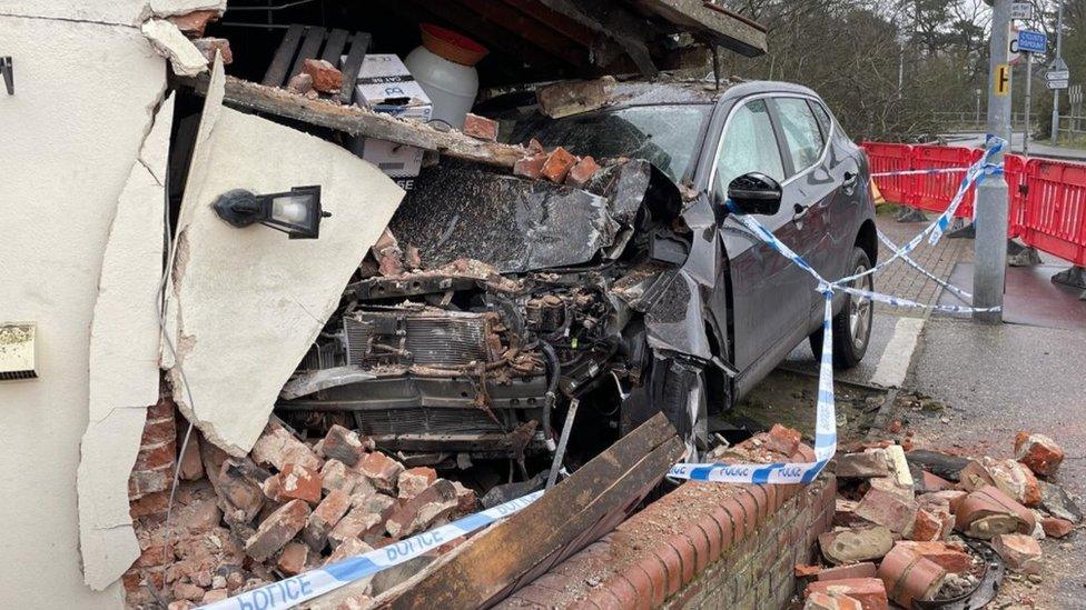
[[[197,93],[204,94],[207,91],[206,76],[178,79],[178,81],[192,86]],[[527,150],[521,146],[484,142],[464,136],[460,131],[438,131],[418,122],[378,114],[355,106],[340,106],[322,99],[310,100],[283,89],[265,87],[235,77],[226,77],[225,89],[224,99],[234,107],[267,112],[355,136],[367,136],[423,150],[433,150],[456,159],[512,168],[513,163],[527,154]]]

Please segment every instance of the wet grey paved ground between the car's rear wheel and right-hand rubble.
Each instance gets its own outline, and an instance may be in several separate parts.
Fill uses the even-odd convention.
[[[1086,154],[1086,153],[1084,153]],[[898,223],[879,217],[879,228],[897,243],[924,223]],[[922,244],[914,257],[926,269],[969,289],[973,240],[942,239]],[[880,259],[888,256],[880,252]],[[1047,434],[1066,458],[1053,482],[1063,484],[1086,507],[1086,301],[1078,291],[1053,287],[1048,278],[1067,263],[1041,254],[1043,267],[1011,268],[1007,276],[1003,324],[969,318],[929,314],[926,310],[876,309],[871,343],[865,360],[835,378],[919,392],[947,406],[942,412],[890,411],[914,433],[916,447],[959,454],[1011,458],[1020,430]],[[934,281],[904,263],[876,277],[876,290],[911,300],[956,302]],[[817,370],[803,344],[787,366]],[[895,402],[892,409],[902,409]],[[1086,533],[1041,544],[1043,581],[1019,576],[1005,581],[991,608],[1086,608]]]

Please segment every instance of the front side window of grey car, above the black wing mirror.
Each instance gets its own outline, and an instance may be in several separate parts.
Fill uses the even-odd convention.
[[[752,171],[777,181],[784,179],[784,166],[766,100],[752,100],[737,108],[725,129],[717,154],[714,182],[718,193],[725,193],[732,180]]]

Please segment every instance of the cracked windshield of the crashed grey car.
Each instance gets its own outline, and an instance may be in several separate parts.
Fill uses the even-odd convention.
[[[514,142],[535,138],[574,154],[631,157],[656,166],[675,182],[691,172],[712,106],[630,106],[562,119],[535,116],[513,128]]]

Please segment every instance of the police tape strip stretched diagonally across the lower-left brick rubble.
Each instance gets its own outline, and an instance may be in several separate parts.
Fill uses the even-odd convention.
[[[519,512],[542,496],[542,490],[529,493],[406,540],[393,542],[387,547],[336,561],[323,568],[303,572],[200,608],[206,610],[284,610],[293,608],[490,526],[498,519]]]

